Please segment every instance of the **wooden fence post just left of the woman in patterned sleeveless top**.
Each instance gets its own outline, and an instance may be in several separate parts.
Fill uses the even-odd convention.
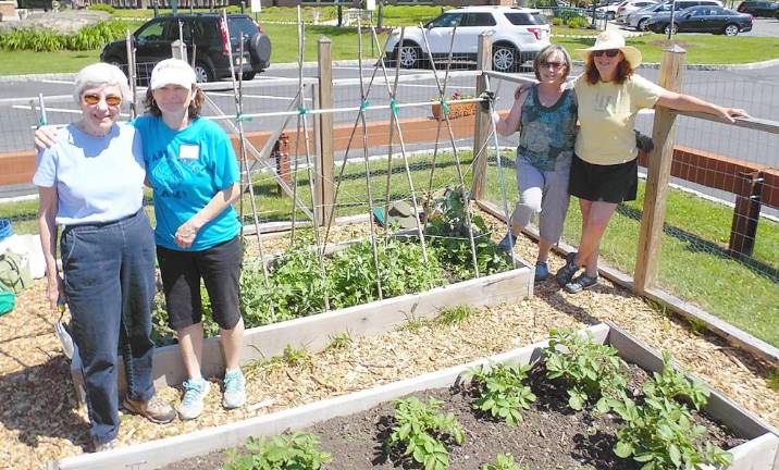
[[[479,50],[477,52],[477,70],[492,70],[492,36],[486,33],[479,35]],[[481,95],[486,88],[484,77],[477,77],[477,96]],[[471,186],[471,199],[482,199],[484,197],[484,183],[486,181],[487,169],[487,146],[486,140],[490,136],[490,127],[492,125],[490,113],[482,110],[481,106],[477,106],[477,114],[473,127],[473,183]],[[481,154],[479,150],[482,149]]]

